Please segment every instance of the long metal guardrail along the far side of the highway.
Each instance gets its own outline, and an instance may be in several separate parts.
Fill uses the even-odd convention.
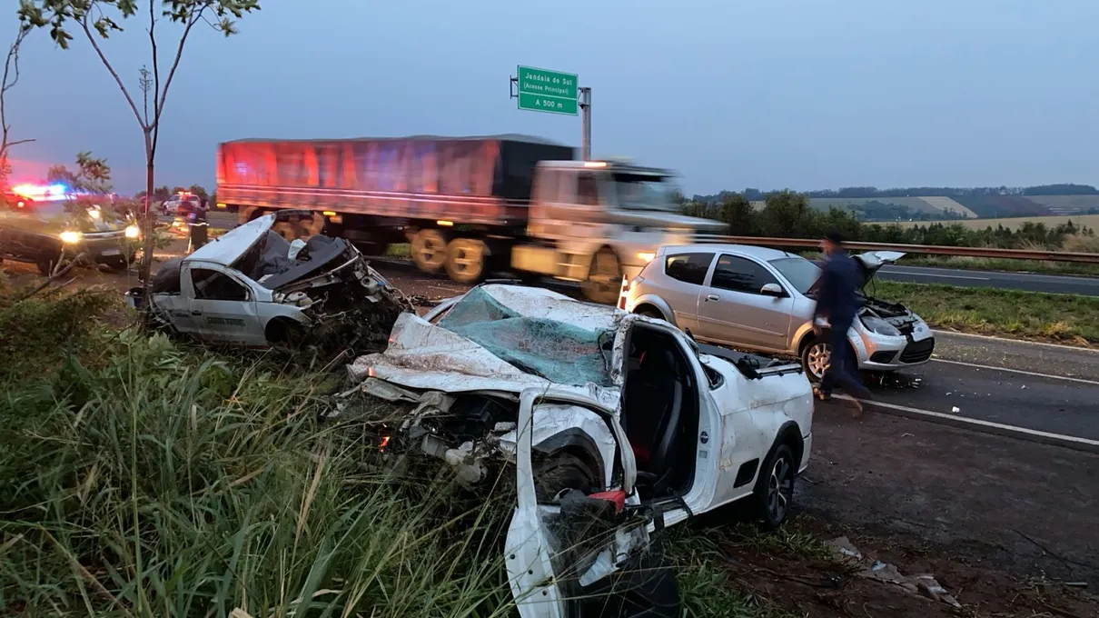
[[[699,235],[699,243],[751,244],[776,247],[820,247],[815,239],[770,239],[763,236],[718,236]],[[845,242],[847,249],[858,251],[899,251],[923,255],[957,255],[966,257],[987,257],[991,260],[1035,260],[1045,262],[1075,262],[1078,264],[1099,264],[1099,253],[1069,253],[1063,251],[1031,251],[1025,249],[986,249],[977,246],[940,246],[928,244],[890,244]]]

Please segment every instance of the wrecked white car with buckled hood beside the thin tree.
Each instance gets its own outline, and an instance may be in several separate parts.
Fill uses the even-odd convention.
[[[335,342],[369,351],[385,345],[410,306],[343,239],[308,242],[271,231],[285,212],[230,230],[190,255],[166,262],[126,293],[147,323],[208,343],[266,347]]]

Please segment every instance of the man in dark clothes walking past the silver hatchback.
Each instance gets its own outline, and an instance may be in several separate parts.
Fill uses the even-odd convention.
[[[858,311],[857,290],[862,277],[858,265],[844,250],[843,236],[839,233],[825,233],[821,251],[824,253],[824,267],[818,285],[813,332],[821,336],[821,319],[828,320],[831,356],[829,367],[814,394],[820,400],[828,401],[832,398],[832,388],[839,386],[854,397],[854,417],[859,418],[863,416],[859,399],[869,399],[870,391],[858,380],[858,366],[847,342],[847,329],[854,323]]]

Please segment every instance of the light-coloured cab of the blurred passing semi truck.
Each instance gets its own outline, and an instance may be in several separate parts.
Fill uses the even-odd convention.
[[[719,221],[680,214],[673,174],[620,161],[545,161],[535,167],[528,243],[511,266],[580,282],[597,302],[618,299],[622,276],[634,277],[656,247],[721,233]]]

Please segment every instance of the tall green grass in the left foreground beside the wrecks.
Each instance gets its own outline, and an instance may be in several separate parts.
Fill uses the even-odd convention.
[[[113,345],[0,400],[0,615],[509,610],[506,509],[393,482],[318,376]]]

